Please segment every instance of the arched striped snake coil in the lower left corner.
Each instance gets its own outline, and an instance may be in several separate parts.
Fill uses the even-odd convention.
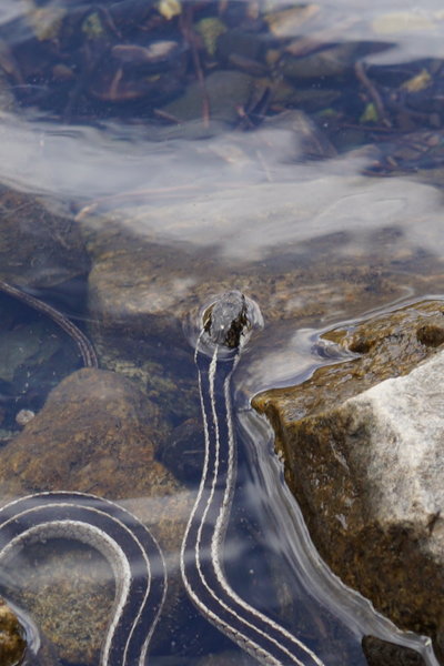
[[[144,666],[167,592],[162,552],[149,529],[118,504],[84,493],[38,493],[0,509],[0,564],[49,538],[88,544],[113,571],[115,598],[100,666]]]

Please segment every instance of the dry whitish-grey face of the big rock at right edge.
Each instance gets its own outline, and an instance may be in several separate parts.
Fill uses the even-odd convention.
[[[444,514],[443,377],[441,353],[341,408],[350,418],[350,457],[366,478],[373,517],[384,528],[408,523],[428,537],[431,524]]]

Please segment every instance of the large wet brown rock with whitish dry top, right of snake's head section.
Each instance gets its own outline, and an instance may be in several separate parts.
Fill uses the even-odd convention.
[[[444,593],[443,331],[444,305],[430,302],[332,332],[349,359],[253,401],[274,426],[321,555],[398,626],[435,645]]]

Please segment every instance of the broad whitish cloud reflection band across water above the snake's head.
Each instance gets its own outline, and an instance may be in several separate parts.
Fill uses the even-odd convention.
[[[127,228],[155,242],[216,248],[245,262],[279,254],[289,244],[297,255],[301,243],[335,232],[345,232],[346,242],[332,243],[334,251],[356,255],[374,243],[377,231],[389,229],[397,232],[393,244],[400,254],[422,250],[442,259],[438,190],[353,174],[365,163],[362,159],[287,164],[281,147],[289,150],[293,138],[285,130],[260,130],[241,139],[228,134],[202,145],[173,141],[154,150],[134,137],[123,155],[115,154],[112,135],[98,130],[64,137],[22,127],[16,133],[7,121],[4,134],[1,150],[9,158],[0,167],[3,182],[64,202],[88,198],[82,218],[120,210]],[[274,142],[266,172],[248,157],[263,141],[268,149]],[[234,147],[245,149],[240,165],[220,157]]]

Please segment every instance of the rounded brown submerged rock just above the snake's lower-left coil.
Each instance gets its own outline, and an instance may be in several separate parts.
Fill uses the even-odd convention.
[[[154,461],[154,441],[164,436],[158,410],[130,380],[80,370],[0,452],[1,496],[47,490],[114,498],[169,494],[178,486]]]

